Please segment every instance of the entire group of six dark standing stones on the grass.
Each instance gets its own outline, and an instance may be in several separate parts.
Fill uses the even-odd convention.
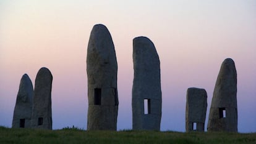
[[[161,76],[156,48],[147,37],[133,40],[134,82],[132,129],[160,130]],[[208,131],[237,132],[237,76],[231,58],[224,60],[213,92]],[[111,34],[105,25],[95,25],[87,48],[87,130],[116,130],[118,93],[117,60]],[[20,80],[12,127],[52,129],[51,84],[47,68],[36,75],[35,90],[27,74]],[[187,89],[186,131],[205,130],[207,92]]]

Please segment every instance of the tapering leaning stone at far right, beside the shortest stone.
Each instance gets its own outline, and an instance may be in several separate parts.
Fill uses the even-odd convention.
[[[237,132],[237,74],[231,58],[221,65],[215,84],[208,120],[208,131]]]

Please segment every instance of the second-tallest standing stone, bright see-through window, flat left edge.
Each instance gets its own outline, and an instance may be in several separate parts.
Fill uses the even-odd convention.
[[[160,60],[146,37],[133,40],[134,83],[132,86],[132,129],[160,130]]]

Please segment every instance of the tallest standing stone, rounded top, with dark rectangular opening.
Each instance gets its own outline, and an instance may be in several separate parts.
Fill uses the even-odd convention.
[[[111,34],[95,25],[87,49],[87,130],[116,130],[118,95],[117,62]]]

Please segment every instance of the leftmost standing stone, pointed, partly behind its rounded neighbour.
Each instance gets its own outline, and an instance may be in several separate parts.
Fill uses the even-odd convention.
[[[33,85],[27,74],[23,74],[20,79],[19,92],[17,94],[14,108],[14,117],[12,119],[12,128],[25,127],[30,128],[33,100]]]

